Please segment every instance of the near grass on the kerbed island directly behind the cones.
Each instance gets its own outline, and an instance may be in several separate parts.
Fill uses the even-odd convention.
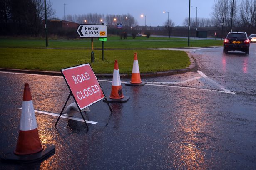
[[[141,73],[182,69],[189,66],[189,57],[183,51],[170,50],[95,50],[95,73],[113,73],[118,60],[120,73],[132,72],[134,52],[137,52]],[[0,48],[0,68],[60,71],[65,67],[90,62],[90,50]]]

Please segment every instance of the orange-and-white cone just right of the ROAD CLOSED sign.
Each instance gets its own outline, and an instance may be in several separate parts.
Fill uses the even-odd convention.
[[[117,60],[114,61],[114,71],[113,71],[113,80],[112,80],[112,89],[109,96],[109,102],[126,102],[130,97],[124,97],[122,93],[122,85],[120,80],[119,68]]]

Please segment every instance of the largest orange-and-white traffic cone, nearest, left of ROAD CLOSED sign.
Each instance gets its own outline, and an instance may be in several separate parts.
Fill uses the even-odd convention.
[[[20,117],[20,131],[14,154],[5,155],[4,160],[17,160],[18,162],[33,162],[41,160],[55,151],[51,144],[42,145],[38,130],[35,111],[30,93],[29,84],[25,84],[23,92],[22,113]]]

